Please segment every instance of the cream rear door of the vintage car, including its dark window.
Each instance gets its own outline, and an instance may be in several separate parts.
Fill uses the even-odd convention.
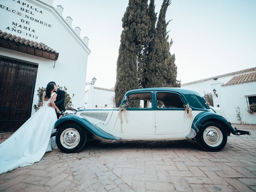
[[[172,134],[186,137],[192,118],[184,112],[184,98],[176,92],[155,93],[156,135]]]

